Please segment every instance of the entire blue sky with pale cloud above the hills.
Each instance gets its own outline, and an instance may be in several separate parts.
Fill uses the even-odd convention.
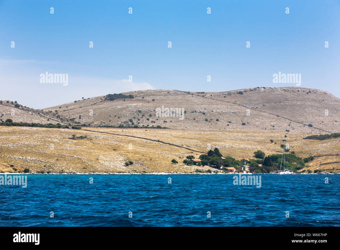
[[[0,99],[41,109],[138,89],[295,86],[273,83],[279,71],[340,97],[339,13],[331,0],[0,0]],[[40,83],[46,71],[68,85]]]

